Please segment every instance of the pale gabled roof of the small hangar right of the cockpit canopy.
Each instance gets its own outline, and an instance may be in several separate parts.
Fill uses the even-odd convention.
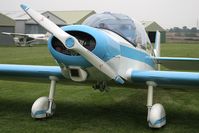
[[[144,25],[146,31],[165,31],[165,29],[155,21],[141,21],[141,23]]]

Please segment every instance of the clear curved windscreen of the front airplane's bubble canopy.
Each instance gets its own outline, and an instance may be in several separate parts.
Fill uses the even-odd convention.
[[[95,14],[87,18],[83,24],[96,28],[109,29],[128,41],[135,43],[136,27],[133,20],[126,15],[109,12]]]

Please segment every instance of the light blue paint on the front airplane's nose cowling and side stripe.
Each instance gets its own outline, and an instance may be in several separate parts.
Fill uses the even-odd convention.
[[[114,57],[121,55],[130,59],[134,59],[143,63],[155,67],[154,60],[145,52],[139,51],[136,48],[129,48],[127,46],[121,45],[121,42],[116,42],[111,37],[107,36],[104,32],[99,29],[92,28],[85,25],[73,25],[62,27],[64,31],[81,31],[92,35],[96,40],[96,47],[92,51],[96,56],[104,61],[113,59]],[[82,56],[70,56],[64,55],[52,48],[52,37],[48,40],[48,48],[53,55],[53,57],[59,62],[66,66],[75,65],[82,67],[92,66],[85,58]]]

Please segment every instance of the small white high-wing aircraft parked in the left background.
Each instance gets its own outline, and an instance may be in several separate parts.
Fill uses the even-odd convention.
[[[51,36],[48,32],[46,34],[22,34],[22,33],[9,33],[2,32],[3,35],[9,35],[13,37],[16,46],[32,46],[36,41],[48,41]]]

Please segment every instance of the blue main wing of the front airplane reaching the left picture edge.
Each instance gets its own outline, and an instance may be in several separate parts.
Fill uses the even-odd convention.
[[[10,65],[0,64],[0,79],[17,80],[18,78],[40,78],[49,79],[49,76],[64,78],[58,66],[38,65]]]

